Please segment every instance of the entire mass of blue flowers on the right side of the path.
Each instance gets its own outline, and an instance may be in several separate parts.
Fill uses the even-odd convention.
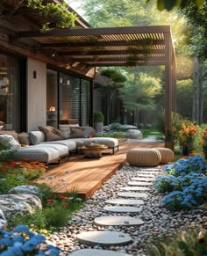
[[[166,194],[161,205],[169,210],[190,209],[207,200],[207,165],[196,155],[167,165],[167,176],[155,179],[155,188]]]

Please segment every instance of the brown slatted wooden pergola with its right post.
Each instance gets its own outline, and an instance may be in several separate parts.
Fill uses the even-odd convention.
[[[96,67],[165,66],[165,119],[175,111],[175,49],[170,26],[129,26],[22,31],[17,40],[32,39],[37,51],[55,56],[61,66],[92,77]]]

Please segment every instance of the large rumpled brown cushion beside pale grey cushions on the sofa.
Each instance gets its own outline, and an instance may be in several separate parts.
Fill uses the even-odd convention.
[[[47,142],[65,139],[64,133],[61,130],[54,128],[52,126],[46,126],[46,127],[39,126],[39,130],[44,132],[44,134],[46,135]]]

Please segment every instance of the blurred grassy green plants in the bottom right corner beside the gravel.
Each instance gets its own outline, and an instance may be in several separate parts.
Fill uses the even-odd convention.
[[[186,230],[172,238],[162,238],[150,245],[150,256],[201,256],[206,255],[207,231]]]

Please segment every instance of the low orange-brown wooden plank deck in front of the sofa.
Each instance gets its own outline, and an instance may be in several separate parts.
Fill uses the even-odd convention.
[[[110,179],[114,172],[125,165],[127,150],[139,147],[164,147],[164,143],[128,143],[122,139],[119,141],[119,150],[114,155],[103,155],[99,159],[84,158],[83,155],[72,156],[69,161],[50,167],[44,179],[37,182],[45,182],[57,193],[76,191],[86,200],[103,182]]]

